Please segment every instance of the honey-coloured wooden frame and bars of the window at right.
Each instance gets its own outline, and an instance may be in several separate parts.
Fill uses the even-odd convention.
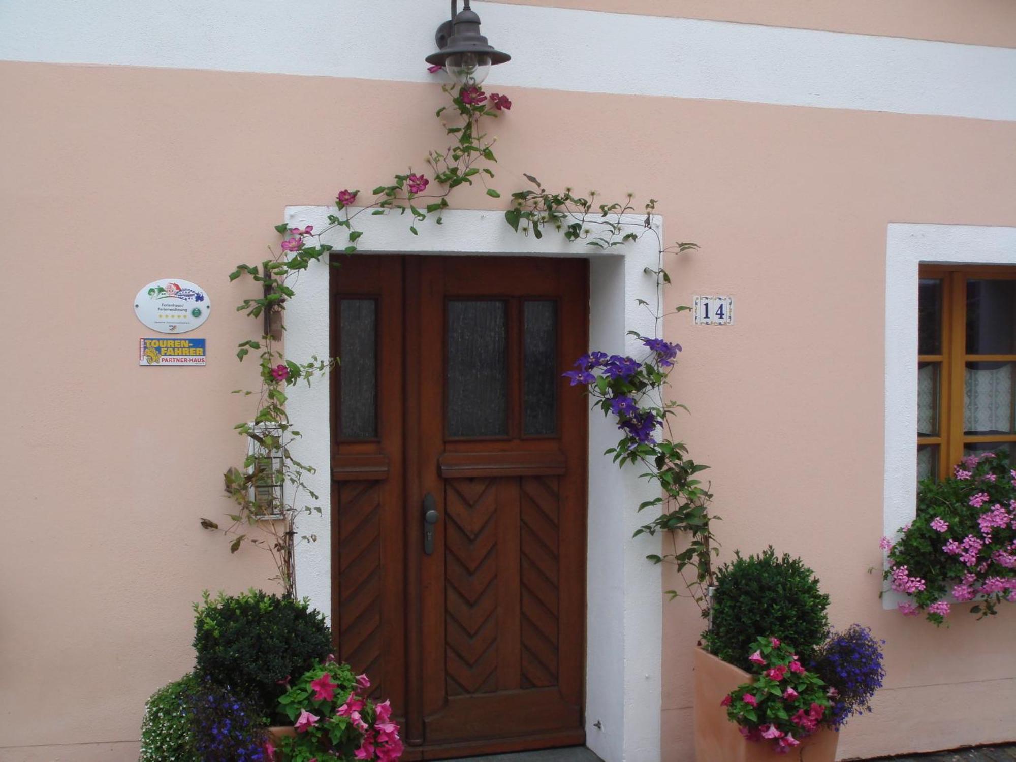
[[[917,437],[917,445],[938,445],[938,478],[945,479],[963,458],[963,448],[977,442],[1012,442],[1016,434],[968,436],[963,430],[966,364],[1016,363],[1013,355],[966,353],[966,283],[969,279],[1016,280],[1016,267],[1007,265],[922,264],[918,279],[942,281],[942,354],[918,355],[917,363],[939,364],[939,435]],[[919,339],[919,337],[918,337]]]

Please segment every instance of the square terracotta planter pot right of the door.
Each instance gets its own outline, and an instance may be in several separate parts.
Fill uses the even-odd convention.
[[[802,739],[788,754],[778,754],[772,742],[745,741],[726,718],[723,697],[752,676],[701,648],[695,649],[696,762],[833,762],[839,734],[824,727]]]

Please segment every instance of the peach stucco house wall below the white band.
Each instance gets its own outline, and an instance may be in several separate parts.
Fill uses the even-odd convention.
[[[804,556],[834,624],[888,641],[888,688],[842,756],[1016,739],[1012,613],[937,631],[883,612],[867,573],[881,563],[886,225],[1016,225],[1016,124],[511,97],[497,127],[503,192],[530,172],[660,198],[668,238],[702,246],[672,263],[670,300],[737,300],[735,326],[668,323],[685,347],[683,433],[713,465],[723,558],[768,543]],[[191,663],[191,601],[266,584],[264,559],[231,558],[197,525],[225,508],[219,473],[243,453],[231,427],[250,409],[229,394],[251,374],[233,357],[249,324],[227,273],[275,241],[283,206],[419,169],[443,141],[430,118],[440,98],[427,84],[0,64],[13,435],[0,760],[131,759],[145,697]],[[213,300],[207,368],[136,366],[145,329],[131,299],[171,275]],[[692,607],[665,605],[666,762],[691,760],[700,625]]]

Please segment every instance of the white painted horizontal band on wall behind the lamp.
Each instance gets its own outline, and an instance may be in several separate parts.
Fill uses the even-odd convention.
[[[447,0],[0,0],[0,59],[426,81]],[[1016,49],[478,2],[491,82],[1016,121]]]

